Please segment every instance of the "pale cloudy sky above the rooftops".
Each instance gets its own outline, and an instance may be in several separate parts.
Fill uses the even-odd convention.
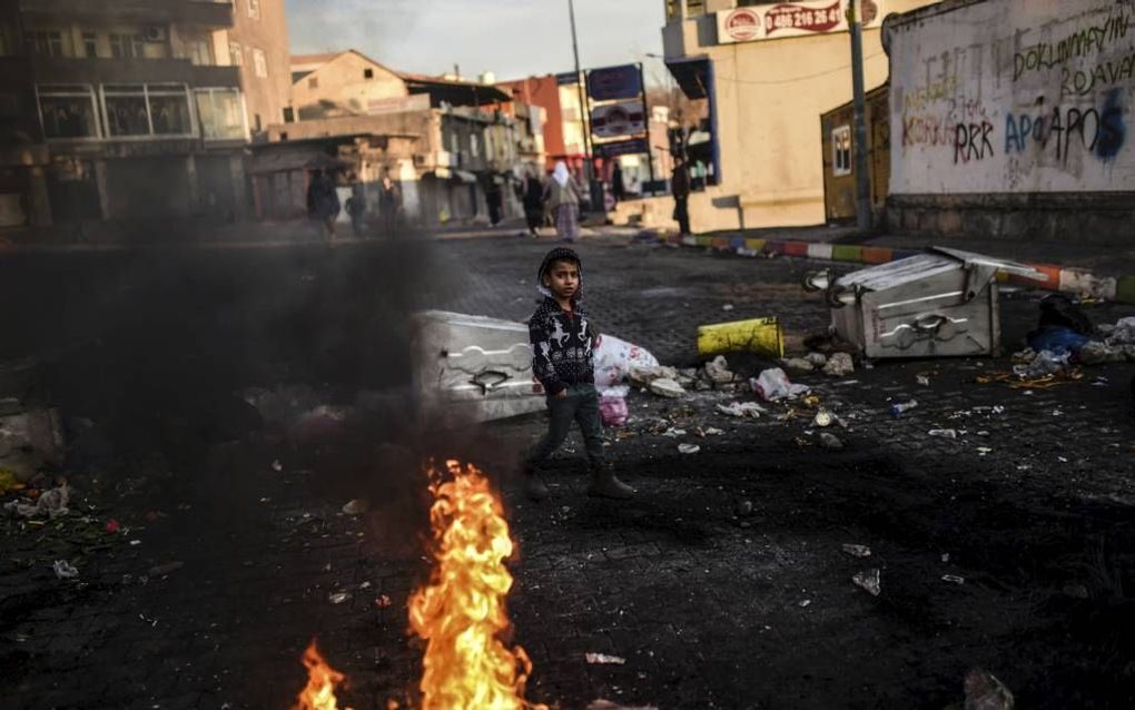
[[[568,0],[286,0],[293,53],[358,49],[394,69],[498,80],[572,68]],[[665,68],[663,0],[575,0],[583,68],[645,61]],[[653,81],[651,81],[653,80]]]

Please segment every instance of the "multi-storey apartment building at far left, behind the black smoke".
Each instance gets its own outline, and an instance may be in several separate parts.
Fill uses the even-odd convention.
[[[0,226],[239,218],[243,85],[257,114],[280,110],[270,83],[286,73],[284,22],[283,0],[5,2]]]

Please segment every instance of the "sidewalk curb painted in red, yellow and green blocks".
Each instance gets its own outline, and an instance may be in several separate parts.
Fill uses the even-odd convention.
[[[740,257],[784,256],[867,265],[886,264],[922,253],[919,249],[793,242],[787,240],[746,239],[743,236],[670,235],[666,237],[666,242],[679,247],[725,251]],[[1004,272],[998,273],[998,281],[1045,291],[1088,295],[1104,301],[1135,303],[1135,275],[1119,277],[1098,276],[1087,269],[1063,267],[1054,264],[1033,264],[1028,261],[1024,261],[1023,264],[1046,275],[1048,281],[1032,281],[1023,276],[1012,276]]]

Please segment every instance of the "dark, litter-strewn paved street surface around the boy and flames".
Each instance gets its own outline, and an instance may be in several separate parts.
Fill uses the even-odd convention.
[[[0,260],[5,300],[20,304],[0,315],[6,382],[62,412],[58,476],[72,487],[69,516],[2,520],[6,703],[287,708],[318,637],[350,679],[344,707],[414,707],[421,643],[406,601],[429,570],[420,467],[460,458],[505,492],[532,702],[960,708],[981,668],[1022,708],[1135,704],[1129,364],[1050,389],[981,384],[1011,369],[1036,324],[1041,294],[1009,291],[1001,358],[792,375],[842,420],[825,429],[840,449],[799,401],[740,419],[717,406],[749,392],[634,391],[628,426],[606,438],[638,495],[586,498],[573,434],[549,466],[552,496],[532,503],[515,469],[543,415],[417,425],[406,317],[521,320],[550,247],[502,234]],[[701,324],[775,316],[802,352],[829,323],[800,285],[816,262],[611,235],[579,252],[599,329],[665,365],[703,365]],[[1130,315],[1084,310],[1104,324]],[[730,366],[748,377],[771,364]],[[318,406],[351,415],[296,431],[272,411]],[[344,513],[353,499],[369,511]],[[77,576],[57,578],[56,560]],[[877,596],[852,583],[871,568]]]

